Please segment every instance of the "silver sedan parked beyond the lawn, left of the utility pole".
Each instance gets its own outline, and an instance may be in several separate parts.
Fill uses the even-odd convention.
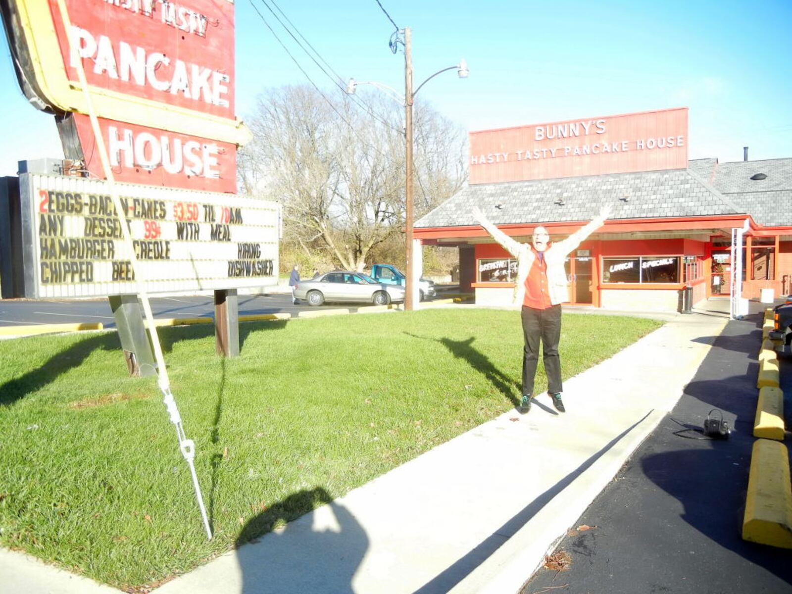
[[[378,283],[363,272],[334,270],[310,280],[300,280],[295,287],[295,298],[313,306],[326,301],[387,305],[404,301],[404,287]]]

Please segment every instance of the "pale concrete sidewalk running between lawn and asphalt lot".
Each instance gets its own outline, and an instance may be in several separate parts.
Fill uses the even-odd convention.
[[[669,318],[569,379],[567,413],[540,395],[527,415],[505,413],[155,592],[516,592],[676,404],[727,321]],[[0,555],[0,573],[17,571],[16,556]],[[19,590],[109,591],[31,586]]]

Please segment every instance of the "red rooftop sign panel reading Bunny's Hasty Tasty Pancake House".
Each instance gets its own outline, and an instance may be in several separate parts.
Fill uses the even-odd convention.
[[[470,184],[685,169],[687,108],[474,131],[468,162]]]

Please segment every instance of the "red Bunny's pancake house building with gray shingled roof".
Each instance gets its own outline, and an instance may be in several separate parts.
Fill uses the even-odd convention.
[[[604,204],[613,217],[569,254],[569,303],[673,311],[686,288],[694,303],[792,292],[792,159],[688,161],[687,109],[472,132],[469,185],[414,233],[458,246],[463,291],[505,304],[516,262],[472,208],[527,242],[538,224],[564,238]]]

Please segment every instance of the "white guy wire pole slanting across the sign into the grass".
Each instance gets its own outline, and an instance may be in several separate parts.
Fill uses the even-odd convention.
[[[65,0],[58,0],[58,10],[60,10],[61,17],[63,18],[63,28],[66,29],[69,39],[69,49],[73,55],[78,55],[79,44],[76,42],[76,40],[74,40],[74,31],[71,28],[71,22],[66,10]],[[135,279],[138,285],[138,293],[140,295],[140,300],[143,303],[143,311],[146,314],[146,322],[148,325],[149,334],[151,336],[151,343],[154,346],[154,358],[157,360],[157,383],[159,385],[159,389],[162,390],[162,395],[164,397],[163,402],[165,403],[166,409],[168,410],[170,422],[176,426],[176,434],[179,440],[179,449],[181,450],[181,455],[185,457],[187,465],[189,466],[190,474],[192,475],[192,487],[195,489],[198,507],[200,508],[200,514],[204,520],[206,535],[208,539],[211,540],[211,527],[209,526],[206,508],[204,507],[204,497],[200,491],[198,475],[196,474],[195,463],[193,462],[195,459],[195,442],[188,440],[187,436],[185,436],[185,430],[181,424],[181,415],[179,414],[179,409],[176,406],[176,400],[174,400],[173,394],[170,391],[168,368],[165,364],[165,357],[162,356],[162,346],[159,344],[157,326],[154,325],[154,315],[151,313],[151,304],[149,303],[148,293],[144,284],[145,276],[143,275],[143,269],[138,265],[138,259],[135,255],[134,246],[132,245],[132,239],[127,220],[121,215],[124,209],[121,206],[121,201],[119,200],[118,192],[116,191],[116,178],[113,176],[112,169],[110,168],[107,148],[105,147],[105,139],[101,135],[101,128],[99,128],[99,120],[97,119],[96,110],[93,109],[93,101],[88,90],[86,72],[82,68],[82,59],[75,60],[74,65],[75,69],[77,70],[77,76],[80,80],[80,86],[82,86],[82,92],[86,97],[88,116],[91,120],[93,135],[96,137],[101,166],[104,170],[105,177],[107,178],[107,185],[110,198],[112,199],[113,208],[116,209],[116,216],[121,223],[121,232],[124,236],[124,246],[126,246],[129,251],[132,272],[135,274]]]

